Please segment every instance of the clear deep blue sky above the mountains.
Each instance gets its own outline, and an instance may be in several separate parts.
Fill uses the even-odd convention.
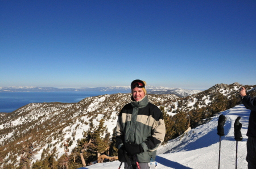
[[[256,1],[0,0],[0,87],[256,84]]]

